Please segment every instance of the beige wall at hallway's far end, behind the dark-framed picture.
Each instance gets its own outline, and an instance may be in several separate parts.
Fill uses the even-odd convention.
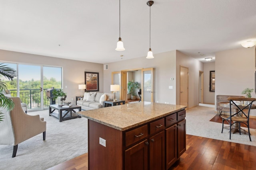
[[[215,62],[204,63],[204,103],[215,103],[215,92],[210,92],[210,71],[215,70]]]

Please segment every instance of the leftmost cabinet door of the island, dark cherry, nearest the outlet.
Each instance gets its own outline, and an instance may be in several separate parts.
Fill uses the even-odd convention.
[[[148,170],[148,140],[124,151],[125,170]]]

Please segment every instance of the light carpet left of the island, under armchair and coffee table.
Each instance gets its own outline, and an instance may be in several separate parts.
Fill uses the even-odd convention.
[[[18,144],[14,158],[13,146],[0,145],[0,170],[45,170],[88,152],[86,118],[59,122],[48,110],[28,114],[44,117],[46,140],[39,134]]]

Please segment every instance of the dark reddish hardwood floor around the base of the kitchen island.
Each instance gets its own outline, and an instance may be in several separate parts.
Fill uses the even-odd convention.
[[[253,170],[256,147],[186,135],[186,152],[170,170]],[[48,170],[88,170],[88,154],[83,154]]]

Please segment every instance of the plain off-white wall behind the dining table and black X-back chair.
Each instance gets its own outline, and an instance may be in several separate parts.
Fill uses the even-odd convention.
[[[255,87],[255,47],[220,51],[215,56],[216,95],[242,95],[245,88]],[[242,96],[245,96],[244,94]],[[252,92],[252,98],[256,98]],[[215,100],[216,106],[216,100]],[[252,110],[252,115],[256,115]]]

